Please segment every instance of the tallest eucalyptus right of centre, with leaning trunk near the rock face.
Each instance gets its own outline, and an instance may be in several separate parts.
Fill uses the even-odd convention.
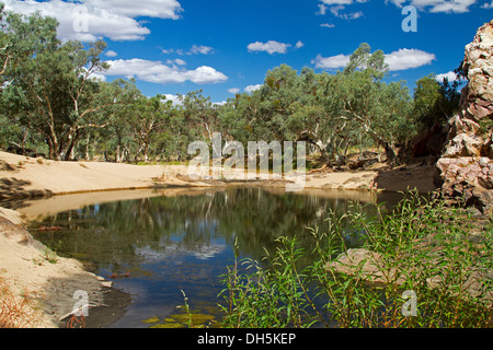
[[[342,120],[355,122],[386,151],[388,162],[398,162],[397,145],[415,131],[411,122],[411,97],[403,82],[383,81],[388,66],[381,50],[370,52],[362,44],[346,68],[337,72],[334,89],[339,98],[331,109]]]

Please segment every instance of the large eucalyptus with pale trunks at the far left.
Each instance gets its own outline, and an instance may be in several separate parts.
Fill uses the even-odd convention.
[[[66,161],[88,130],[111,122],[104,112],[123,102],[124,91],[119,83],[93,79],[110,68],[101,60],[104,42],[62,44],[56,38],[57,25],[37,13],[9,14],[3,33],[22,59],[3,73],[9,84],[2,104],[10,118],[43,136],[50,158]]]

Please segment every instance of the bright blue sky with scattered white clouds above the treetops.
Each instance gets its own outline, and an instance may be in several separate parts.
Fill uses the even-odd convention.
[[[213,102],[262,84],[282,63],[336,72],[360,43],[381,49],[389,80],[410,89],[447,74],[475,31],[493,19],[493,0],[3,0],[8,10],[58,19],[62,40],[104,39],[106,81],[135,77],[147,96],[202,89]],[[417,31],[404,32],[417,11]],[[442,75],[440,75],[442,77]]]

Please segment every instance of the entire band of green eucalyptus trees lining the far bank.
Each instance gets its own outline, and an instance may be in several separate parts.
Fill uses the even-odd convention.
[[[57,39],[58,23],[39,13],[0,9],[0,147],[33,148],[56,160],[184,161],[193,141],[307,141],[324,162],[345,163],[351,148],[397,148],[457,113],[457,82],[434,75],[389,81],[381,50],[362,44],[335,73],[287,65],[266,72],[260,89],[216,105],[203,91],[145,96],[135,80],[98,79],[110,68],[102,40]]]

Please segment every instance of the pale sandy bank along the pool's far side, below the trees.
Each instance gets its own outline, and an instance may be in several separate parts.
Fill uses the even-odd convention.
[[[380,189],[433,190],[434,166],[414,164],[392,171],[314,172],[306,176],[306,188],[367,189],[372,182]],[[223,178],[240,177],[236,171]],[[185,165],[129,165],[101,162],[56,162],[0,152],[0,200],[36,198],[85,191],[167,187],[223,186],[221,180],[192,179]],[[275,186],[275,182],[268,185]],[[283,186],[283,182],[278,183]]]

